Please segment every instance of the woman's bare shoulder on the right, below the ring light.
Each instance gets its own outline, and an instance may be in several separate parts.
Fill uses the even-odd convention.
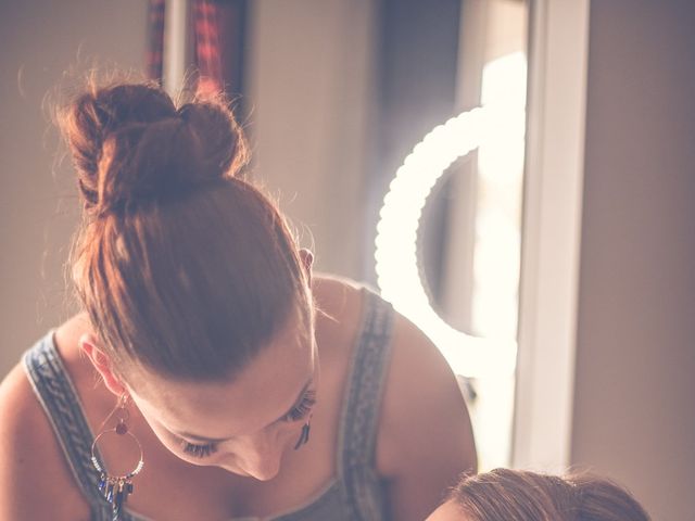
[[[396,519],[424,519],[442,491],[477,467],[470,418],[439,348],[395,313],[377,441]]]

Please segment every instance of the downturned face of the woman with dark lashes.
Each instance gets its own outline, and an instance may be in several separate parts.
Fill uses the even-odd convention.
[[[311,419],[319,385],[315,345],[295,323],[230,380],[143,379],[132,399],[162,444],[194,465],[274,478]]]

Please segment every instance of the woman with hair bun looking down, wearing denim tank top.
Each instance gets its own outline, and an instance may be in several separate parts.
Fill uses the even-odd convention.
[[[84,312],[0,387],[1,520],[421,520],[476,468],[445,361],[313,276],[222,101],[92,88],[63,129]]]

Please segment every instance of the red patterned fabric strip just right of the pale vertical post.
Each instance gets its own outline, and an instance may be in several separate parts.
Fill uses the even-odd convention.
[[[217,5],[212,0],[195,0],[195,61],[199,71],[198,92],[223,90]]]

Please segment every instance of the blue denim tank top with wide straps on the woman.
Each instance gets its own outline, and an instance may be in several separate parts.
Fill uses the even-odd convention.
[[[352,355],[337,444],[337,474],[314,499],[269,518],[230,521],[379,521],[387,519],[383,486],[375,468],[379,410],[387,369],[393,308],[363,289],[363,317]],[[76,485],[91,508],[92,521],[113,521],[111,505],[98,490],[91,462],[91,432],[73,382],[53,342],[53,331],[24,354],[24,368]],[[103,467],[101,455],[96,454]],[[124,506],[119,521],[155,521]],[[163,520],[156,520],[163,521]]]

